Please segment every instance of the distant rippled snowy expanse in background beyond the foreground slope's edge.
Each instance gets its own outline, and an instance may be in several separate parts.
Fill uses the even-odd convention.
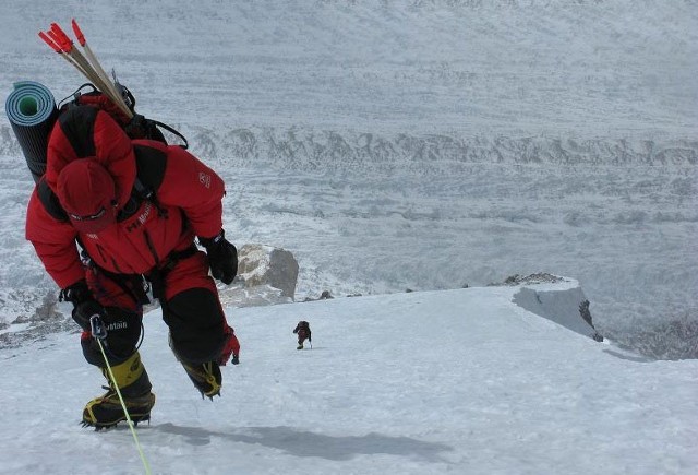
[[[293,252],[297,300],[551,272],[605,336],[698,355],[694,2],[5,1],[8,94],[82,84],[36,37],[72,16],[136,109],[226,178],[227,235]],[[0,170],[7,345],[67,322],[2,115]]]

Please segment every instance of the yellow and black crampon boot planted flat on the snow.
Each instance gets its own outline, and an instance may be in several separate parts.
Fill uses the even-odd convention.
[[[109,385],[104,387],[107,390],[104,395],[95,397],[85,405],[83,426],[95,427],[96,430],[99,430],[127,420],[117,394],[117,387],[121,391],[131,420],[135,425],[142,420],[149,420],[151,409],[155,405],[155,394],[151,392],[151,380],[141,363],[139,352],[135,352],[125,361],[112,366],[111,371],[116,381],[111,380],[107,368],[101,368]]]

